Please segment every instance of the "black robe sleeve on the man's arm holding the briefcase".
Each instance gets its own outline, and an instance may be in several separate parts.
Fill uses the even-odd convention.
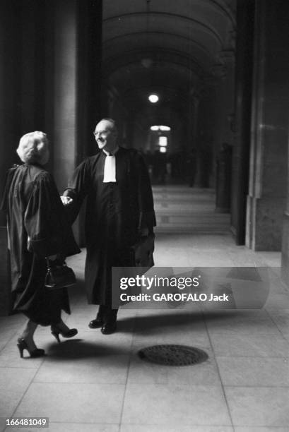
[[[156,225],[155,210],[153,209],[153,191],[148,174],[148,167],[140,153],[136,153],[136,166],[138,168],[138,208],[140,210],[139,228],[148,228],[149,231]]]

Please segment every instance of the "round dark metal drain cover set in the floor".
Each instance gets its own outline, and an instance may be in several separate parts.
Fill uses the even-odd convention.
[[[142,360],[167,366],[187,366],[208,359],[208,354],[202,349],[186,345],[153,345],[138,351]]]

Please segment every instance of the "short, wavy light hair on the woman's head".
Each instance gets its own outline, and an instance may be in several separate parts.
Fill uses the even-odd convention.
[[[20,138],[16,152],[22,162],[45,164],[49,157],[48,145],[46,133],[40,131],[25,133]]]

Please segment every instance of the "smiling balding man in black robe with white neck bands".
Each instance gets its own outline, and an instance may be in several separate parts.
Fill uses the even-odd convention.
[[[62,200],[72,220],[85,197],[85,287],[88,303],[99,304],[90,328],[108,335],[116,330],[117,309],[112,309],[112,267],[130,267],[131,246],[155,226],[153,194],[141,154],[117,145],[114,120],[95,127],[100,152],[84,160],[73,173]]]

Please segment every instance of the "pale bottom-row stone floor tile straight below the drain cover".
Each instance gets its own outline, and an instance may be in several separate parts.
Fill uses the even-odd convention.
[[[222,390],[201,385],[127,385],[122,423],[231,426]]]

